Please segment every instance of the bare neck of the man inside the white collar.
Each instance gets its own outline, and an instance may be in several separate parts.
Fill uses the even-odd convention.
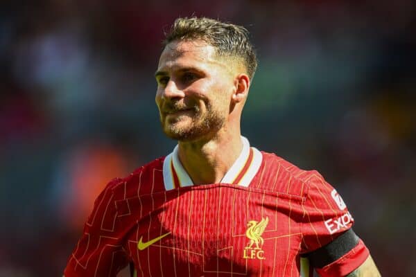
[[[200,141],[181,141],[178,154],[193,184],[215,184],[220,183],[242,149],[240,132],[232,132]]]

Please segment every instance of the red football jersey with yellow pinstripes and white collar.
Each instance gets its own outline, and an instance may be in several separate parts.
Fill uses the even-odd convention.
[[[193,186],[177,148],[114,179],[98,196],[64,275],[311,276],[302,255],[351,228],[343,199],[316,171],[275,154],[243,150],[220,184]],[[326,267],[361,265],[363,242]]]

